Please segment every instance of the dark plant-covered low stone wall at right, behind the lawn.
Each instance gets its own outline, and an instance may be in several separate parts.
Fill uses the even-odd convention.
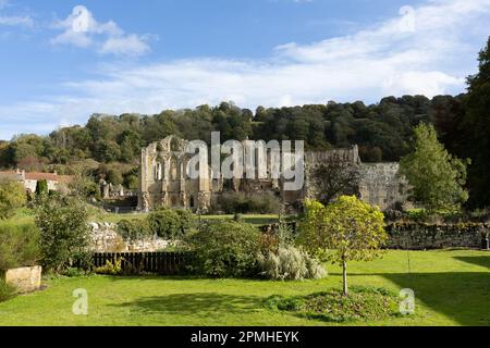
[[[393,223],[387,226],[390,249],[481,248],[482,233],[489,224]]]

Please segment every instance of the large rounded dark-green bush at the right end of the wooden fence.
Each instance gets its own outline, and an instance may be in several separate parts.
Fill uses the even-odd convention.
[[[256,276],[259,240],[254,226],[233,221],[208,223],[187,239],[195,251],[195,271],[213,277]]]

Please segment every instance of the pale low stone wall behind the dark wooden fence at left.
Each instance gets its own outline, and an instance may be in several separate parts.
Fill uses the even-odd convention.
[[[148,238],[126,243],[117,233],[118,225],[112,223],[90,223],[93,251],[95,252],[155,252],[171,245],[171,241],[161,238]]]

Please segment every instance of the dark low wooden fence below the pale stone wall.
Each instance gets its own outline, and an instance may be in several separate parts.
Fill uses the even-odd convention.
[[[124,273],[146,272],[160,275],[175,275],[185,272],[189,264],[189,252],[97,252],[93,265],[101,268],[111,262],[121,261]]]

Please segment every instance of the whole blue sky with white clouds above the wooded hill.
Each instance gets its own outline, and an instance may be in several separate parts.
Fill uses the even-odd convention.
[[[458,94],[490,0],[0,0],[0,139],[233,100]]]

